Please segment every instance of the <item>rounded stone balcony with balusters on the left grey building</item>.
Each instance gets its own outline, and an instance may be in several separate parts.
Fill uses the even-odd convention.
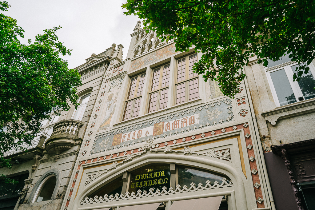
[[[53,133],[45,143],[45,149],[48,153],[55,154],[55,161],[58,160],[61,152],[82,142],[82,137],[79,135],[82,126],[83,122],[79,120],[61,120],[54,125]]]

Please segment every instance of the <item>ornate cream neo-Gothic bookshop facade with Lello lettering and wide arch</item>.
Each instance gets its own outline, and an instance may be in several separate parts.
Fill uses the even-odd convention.
[[[62,209],[271,209],[247,80],[230,99],[192,72],[194,48],[175,52],[140,22],[131,37],[104,74]]]

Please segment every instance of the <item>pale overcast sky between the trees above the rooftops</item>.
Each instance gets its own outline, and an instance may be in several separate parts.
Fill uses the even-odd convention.
[[[59,41],[72,49],[68,60],[69,68],[75,68],[89,58],[92,53],[99,54],[112,46],[124,46],[124,59],[127,55],[130,34],[139,20],[126,16],[121,5],[126,0],[6,0],[11,7],[5,15],[17,20],[21,26],[26,44],[35,39],[44,29],[62,26],[57,32]]]

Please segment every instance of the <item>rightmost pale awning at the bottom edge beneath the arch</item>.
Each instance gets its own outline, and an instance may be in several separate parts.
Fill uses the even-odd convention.
[[[169,210],[218,210],[222,196],[174,201]]]

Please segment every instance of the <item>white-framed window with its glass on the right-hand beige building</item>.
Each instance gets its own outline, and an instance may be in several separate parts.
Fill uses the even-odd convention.
[[[290,59],[286,59],[286,57],[288,56],[283,57],[283,62],[280,64],[279,61],[278,63],[269,61],[266,69],[267,78],[278,106],[315,97],[315,70],[313,66],[309,65],[310,71],[307,74],[303,73],[299,81],[294,82],[292,77],[299,64],[290,62]]]

